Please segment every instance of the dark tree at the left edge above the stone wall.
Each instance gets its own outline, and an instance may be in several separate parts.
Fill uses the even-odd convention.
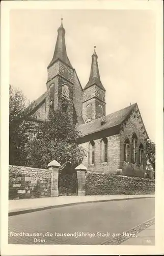
[[[22,91],[9,87],[9,164],[25,165],[25,144],[28,141],[28,130],[33,125],[26,118],[30,105]]]

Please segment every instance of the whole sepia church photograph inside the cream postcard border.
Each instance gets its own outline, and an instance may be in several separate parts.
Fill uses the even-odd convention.
[[[156,28],[148,8],[10,10],[8,245],[156,246]]]

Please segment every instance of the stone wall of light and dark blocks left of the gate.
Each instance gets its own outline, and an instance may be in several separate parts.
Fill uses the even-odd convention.
[[[9,165],[9,199],[49,197],[51,171]]]

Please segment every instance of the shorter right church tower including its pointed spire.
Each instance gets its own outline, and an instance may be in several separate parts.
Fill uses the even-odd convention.
[[[83,94],[83,119],[85,122],[105,116],[105,89],[100,80],[97,58],[94,49],[90,77]]]

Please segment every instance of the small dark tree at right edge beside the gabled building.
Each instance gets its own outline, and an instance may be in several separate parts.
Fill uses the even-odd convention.
[[[154,171],[155,171],[155,143],[151,141],[150,139],[146,142],[146,148],[147,148],[147,157],[146,159],[149,160],[151,163]]]

